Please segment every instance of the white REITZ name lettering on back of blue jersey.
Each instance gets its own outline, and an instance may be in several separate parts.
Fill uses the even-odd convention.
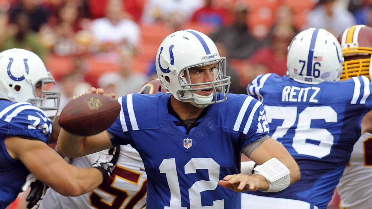
[[[311,102],[318,103],[315,99],[320,87],[300,88],[296,86],[285,86],[282,91],[282,102]]]

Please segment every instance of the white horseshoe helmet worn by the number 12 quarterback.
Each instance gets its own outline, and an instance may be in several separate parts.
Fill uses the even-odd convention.
[[[166,91],[177,100],[190,102],[202,108],[209,104],[224,102],[230,89],[230,76],[226,75],[225,57],[220,57],[211,38],[196,30],[179,30],[171,33],[160,44],[156,54],[156,71]],[[218,63],[215,80],[205,83],[188,83],[189,68]],[[193,86],[208,85],[201,88]],[[196,90],[213,89],[209,96],[194,93]],[[217,92],[224,95],[216,99]],[[214,99],[215,98],[215,99]],[[214,101],[213,101],[214,99]]]

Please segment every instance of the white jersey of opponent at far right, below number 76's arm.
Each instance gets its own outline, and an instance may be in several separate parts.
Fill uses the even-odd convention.
[[[372,134],[364,133],[354,145],[337,192],[341,206],[347,209],[371,208],[372,205]]]

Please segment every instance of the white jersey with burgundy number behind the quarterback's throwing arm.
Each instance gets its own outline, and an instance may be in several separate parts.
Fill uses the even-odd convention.
[[[90,167],[89,155],[73,158],[72,165]],[[65,197],[51,188],[39,209],[140,209],[146,203],[147,175],[138,152],[121,145],[113,174],[92,192]]]

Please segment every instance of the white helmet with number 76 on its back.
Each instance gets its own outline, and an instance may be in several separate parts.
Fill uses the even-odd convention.
[[[288,46],[287,75],[300,83],[336,82],[343,62],[337,38],[327,30],[309,28],[299,32]]]

